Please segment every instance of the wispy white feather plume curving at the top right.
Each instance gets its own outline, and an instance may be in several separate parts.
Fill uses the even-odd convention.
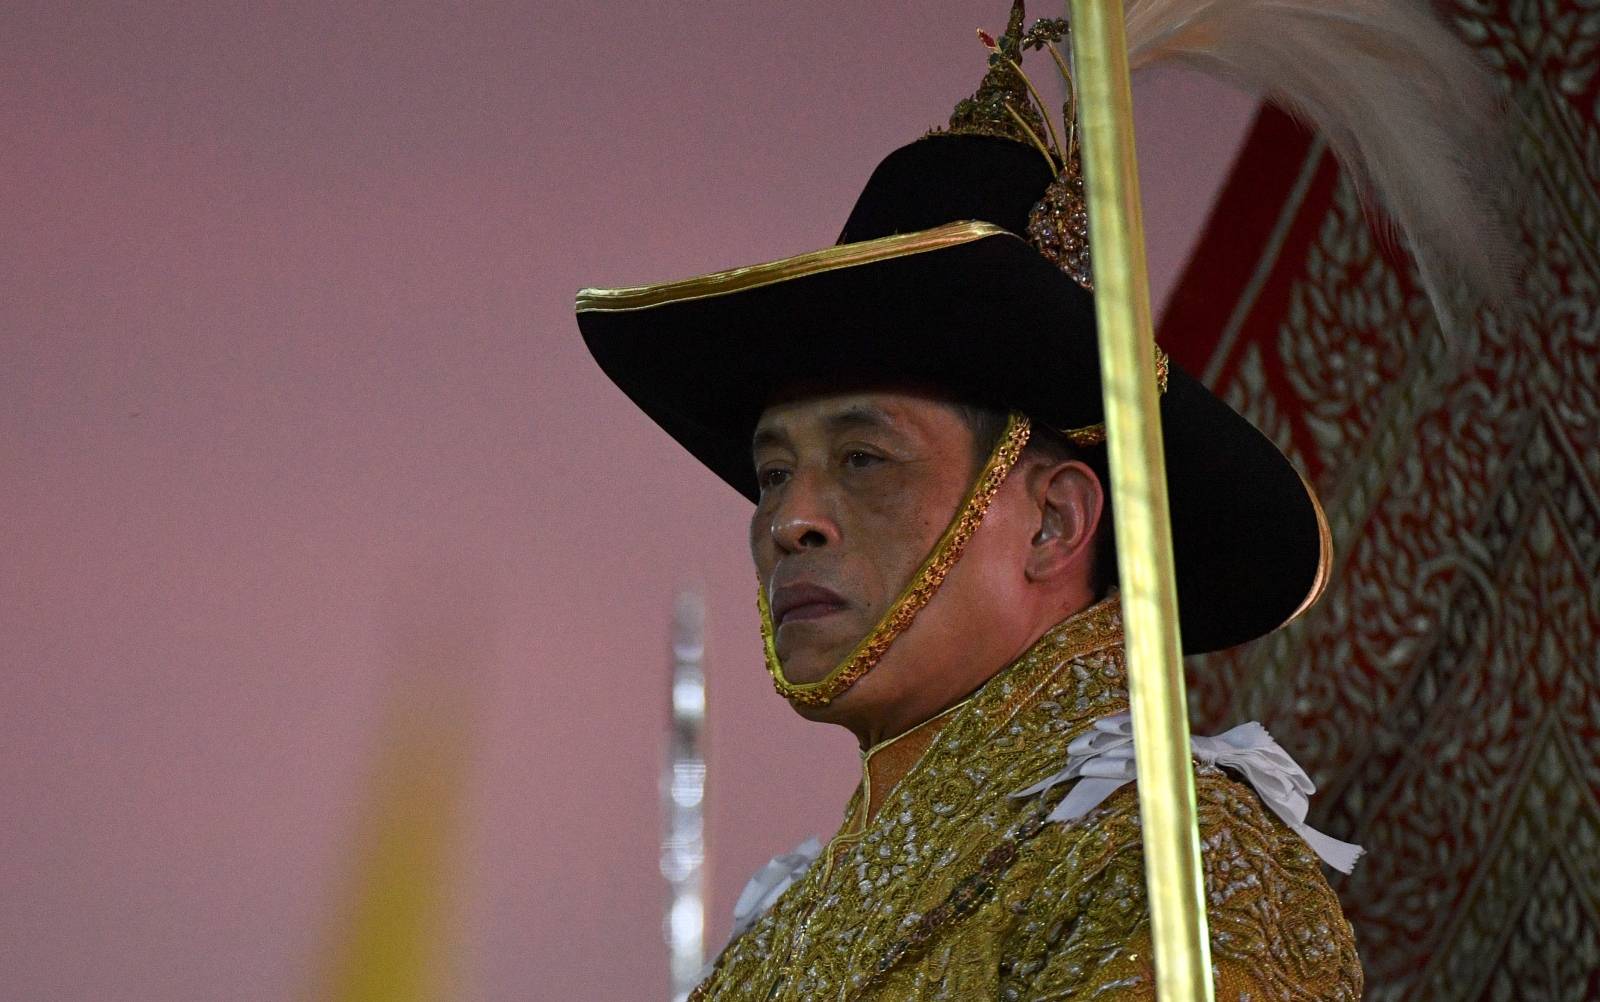
[[[1128,0],[1133,69],[1178,61],[1314,126],[1445,288],[1509,291],[1515,190],[1490,74],[1426,0]]]

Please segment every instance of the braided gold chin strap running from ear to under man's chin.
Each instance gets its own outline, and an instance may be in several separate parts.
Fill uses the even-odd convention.
[[[818,682],[798,683],[784,677],[784,666],[778,659],[778,648],[773,647],[773,610],[766,600],[766,586],[757,586],[755,602],[762,611],[762,647],[766,651],[766,671],[771,672],[773,688],[778,690],[779,696],[802,706],[827,706],[877,666],[890,645],[906,632],[912,619],[917,618],[917,613],[922,611],[922,607],[939,591],[944,576],[950,573],[955,562],[962,559],[962,552],[971,541],[973,533],[978,531],[978,525],[984,520],[984,512],[989,511],[989,503],[994,501],[995,491],[1000,490],[1006,474],[1011,472],[1011,467],[1022,456],[1022,447],[1027,445],[1027,418],[1013,411],[1006,418],[1005,434],[1000,435],[1000,442],[989,455],[989,463],[984,464],[982,472],[978,474],[978,480],[966,491],[966,499],[955,512],[950,525],[946,527],[944,535],[939,536],[933,552],[922,562],[922,567],[912,575],[910,583],[901,591],[899,599],[890,605],[883,618],[878,619],[878,624],[872,627],[872,632],[834,671],[827,672],[827,677]]]

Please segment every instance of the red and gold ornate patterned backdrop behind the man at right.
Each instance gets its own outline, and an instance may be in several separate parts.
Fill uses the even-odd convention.
[[[1248,139],[1162,343],[1323,499],[1322,602],[1195,664],[1195,727],[1296,735],[1392,1002],[1600,999],[1600,19],[1453,0],[1515,106],[1517,298],[1442,335],[1285,115]]]

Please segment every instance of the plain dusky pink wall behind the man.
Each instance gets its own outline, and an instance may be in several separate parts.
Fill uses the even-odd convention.
[[[6,3],[0,994],[310,991],[443,632],[458,991],[666,997],[674,589],[710,603],[714,941],[854,752],[770,693],[746,506],[571,295],[832,242],[1003,8]],[[1141,85],[1158,298],[1251,110]]]

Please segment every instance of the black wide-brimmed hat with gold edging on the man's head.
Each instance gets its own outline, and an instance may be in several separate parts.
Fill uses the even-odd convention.
[[[755,423],[797,384],[915,384],[1054,429],[1098,424],[1094,298],[1026,237],[1053,178],[1013,139],[925,136],[878,165],[837,245],[584,290],[578,325],[622,392],[752,501]],[[1162,432],[1186,653],[1272,632],[1326,576],[1315,495],[1178,365]]]

